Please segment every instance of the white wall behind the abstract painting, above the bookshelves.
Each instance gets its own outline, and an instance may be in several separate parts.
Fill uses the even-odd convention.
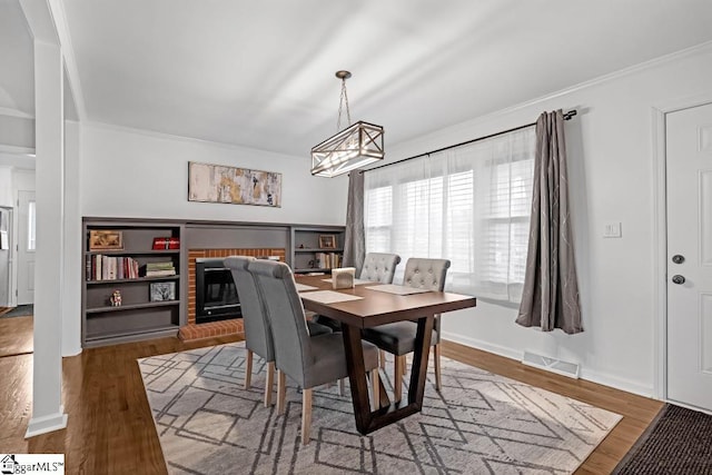
[[[283,174],[281,207],[188,201],[188,161]],[[344,225],[347,178],[315,178],[309,150],[284,156],[243,147],[81,125],[81,214]]]

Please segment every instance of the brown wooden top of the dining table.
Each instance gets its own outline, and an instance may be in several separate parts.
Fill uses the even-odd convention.
[[[354,288],[333,289],[328,275],[296,275],[295,280],[315,290],[304,290],[299,295],[307,310],[334,318],[344,324],[369,328],[378,325],[414,319],[427,315],[459,310],[474,307],[476,299],[469,295],[453,294],[447,291],[426,291],[421,294],[397,295],[369,289],[379,286],[380,283],[368,283],[354,286]],[[316,290],[333,290],[346,295],[363,297],[358,300],[337,301],[324,304],[309,300],[307,294]]]

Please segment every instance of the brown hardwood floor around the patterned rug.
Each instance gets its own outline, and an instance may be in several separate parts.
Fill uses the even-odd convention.
[[[85,349],[81,355],[65,358],[67,428],[30,439],[24,439],[24,432],[32,409],[32,355],[0,357],[4,388],[0,393],[0,452],[63,453],[68,474],[165,474],[136,359],[238,339],[186,344],[161,338]],[[557,376],[453,343],[443,344],[443,356],[623,415],[577,474],[610,473],[662,407],[657,400]]]

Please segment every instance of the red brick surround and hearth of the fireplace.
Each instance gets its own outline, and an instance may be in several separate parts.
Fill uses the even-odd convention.
[[[189,249],[188,250],[188,325],[180,327],[178,336],[188,342],[214,336],[239,335],[244,331],[243,319],[233,318],[221,321],[196,324],[196,259],[220,258],[228,256],[279,256],[285,261],[285,249]]]

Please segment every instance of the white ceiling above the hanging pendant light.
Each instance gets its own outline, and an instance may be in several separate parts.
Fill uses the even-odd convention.
[[[383,125],[388,147],[712,40],[710,0],[63,6],[83,119],[295,156],[336,131],[339,69],[353,119]],[[2,70],[9,57],[0,46]],[[32,101],[0,78],[0,107],[3,90]]]

